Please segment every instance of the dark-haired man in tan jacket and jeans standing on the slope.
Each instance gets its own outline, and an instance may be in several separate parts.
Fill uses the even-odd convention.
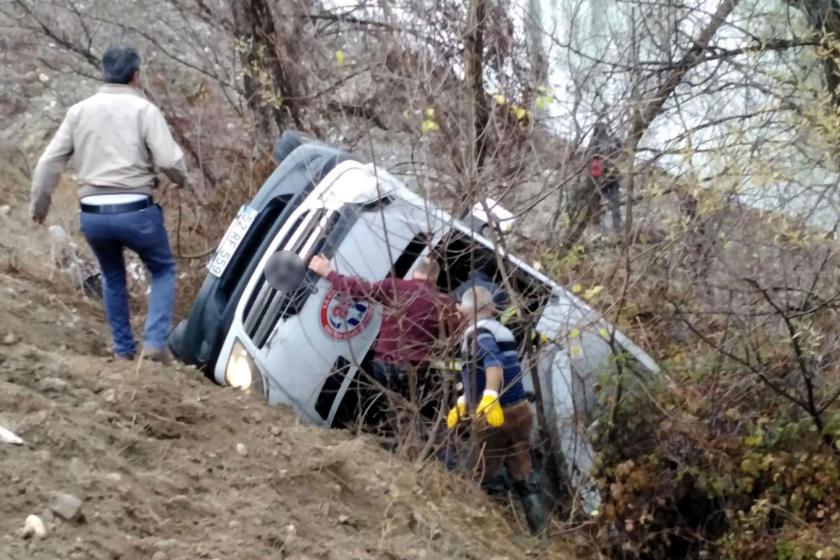
[[[32,220],[42,224],[68,161],[76,168],[82,233],[99,261],[105,311],[118,358],[133,359],[137,347],[129,321],[123,250],[137,253],[152,276],[144,353],[168,361],[175,260],[152,199],[158,171],[183,186],[184,154],[160,110],[139,89],[140,56],[122,46],[102,57],[106,84],[67,111],[38,161],[32,181]]]

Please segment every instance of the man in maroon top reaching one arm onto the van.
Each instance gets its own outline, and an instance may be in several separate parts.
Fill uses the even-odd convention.
[[[446,335],[447,323],[457,317],[455,303],[435,287],[440,267],[429,258],[417,263],[408,280],[368,282],[342,276],[322,255],[312,257],[309,269],[337,290],[382,304],[382,326],[371,369],[376,380],[389,388],[398,387],[409,368],[415,372],[428,368],[438,341]]]

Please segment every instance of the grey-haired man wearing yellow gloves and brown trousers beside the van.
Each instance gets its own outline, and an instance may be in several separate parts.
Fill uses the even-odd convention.
[[[502,468],[507,470],[529,529],[545,544],[548,509],[539,474],[533,468],[534,418],[522,386],[516,342],[495,318],[493,294],[487,288],[467,290],[459,311],[468,324],[461,345],[464,393],[450,410],[447,425],[453,429],[461,420],[473,418],[471,468],[491,495],[503,487]]]

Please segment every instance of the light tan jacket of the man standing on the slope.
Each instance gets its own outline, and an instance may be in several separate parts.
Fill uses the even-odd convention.
[[[76,168],[79,197],[151,194],[161,171],[185,185],[184,153],[160,109],[129,85],[107,84],[67,110],[32,179],[30,210],[43,218],[67,162]]]

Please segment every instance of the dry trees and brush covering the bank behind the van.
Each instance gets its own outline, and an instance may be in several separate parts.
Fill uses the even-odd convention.
[[[25,181],[66,105],[93,91],[98,56],[125,40],[190,157],[192,190],[163,194],[181,312],[286,128],[455,213],[499,199],[521,224],[505,242],[665,369],[655,386],[604,380],[605,503],[566,533],[619,558],[840,558],[834,3],[337,4],[0,0],[0,118],[17,154],[3,181]],[[543,4],[564,21],[610,14],[564,34]],[[618,239],[581,179],[601,111],[623,139]],[[65,196],[53,219],[71,231]],[[4,197],[22,239],[25,195]],[[0,239],[4,266],[43,259],[15,239]]]

